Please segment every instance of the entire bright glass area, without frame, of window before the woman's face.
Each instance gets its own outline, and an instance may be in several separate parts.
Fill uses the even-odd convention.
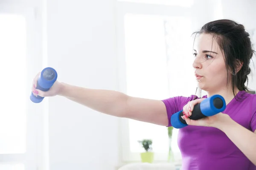
[[[193,94],[195,80],[184,79],[193,78],[189,75],[193,75],[191,44],[188,18],[126,14],[127,94],[148,99]],[[190,82],[190,87],[187,82]],[[154,152],[168,152],[167,127],[132,119],[128,121],[131,152],[143,152],[137,142],[141,139],[152,139]],[[172,148],[176,158],[180,158],[177,132],[174,129]]]

